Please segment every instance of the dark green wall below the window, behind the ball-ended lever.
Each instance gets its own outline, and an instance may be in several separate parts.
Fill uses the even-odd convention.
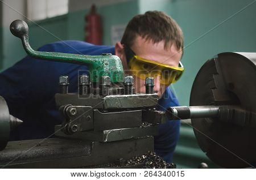
[[[11,22],[10,22],[11,23]],[[36,25],[38,24],[38,25]],[[67,40],[67,15],[42,20],[36,24],[28,23],[30,30],[30,44],[33,49],[59,40]],[[39,27],[40,26],[40,27]],[[27,54],[23,49],[19,38],[13,36],[9,27],[2,27],[2,68],[1,71],[13,66],[14,63],[25,57]]]

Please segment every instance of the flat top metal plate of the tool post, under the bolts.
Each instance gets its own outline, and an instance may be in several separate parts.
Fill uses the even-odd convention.
[[[75,106],[92,106],[94,109],[127,109],[127,108],[147,108],[158,104],[158,94],[135,95],[86,95],[79,96],[75,93],[55,94],[55,102],[58,107],[72,104]]]

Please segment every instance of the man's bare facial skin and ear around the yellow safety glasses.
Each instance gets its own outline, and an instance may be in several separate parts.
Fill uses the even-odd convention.
[[[121,44],[117,44],[115,46],[115,53],[122,59],[124,70],[129,70],[127,66],[125,52],[122,50],[123,46],[120,45]],[[119,50],[117,50],[118,48]],[[150,59],[151,61],[162,63],[163,65],[175,67],[179,66],[179,61],[182,55],[182,51],[177,50],[174,44],[172,44],[170,48],[164,49],[164,41],[160,41],[154,44],[154,42],[150,40],[145,40],[141,36],[137,36],[137,38],[135,38],[135,41],[130,49],[133,50],[133,52],[139,57],[142,57],[144,59]],[[162,96],[168,85],[160,84],[160,76],[154,77],[154,83],[155,92],[158,93],[159,97]],[[135,92],[145,92],[146,89],[144,84],[144,79],[134,77]]]

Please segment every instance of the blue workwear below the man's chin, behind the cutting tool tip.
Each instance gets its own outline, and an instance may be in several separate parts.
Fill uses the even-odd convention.
[[[179,106],[179,102],[174,93],[168,87],[163,96],[158,101],[158,110],[166,111],[170,106]],[[173,153],[179,140],[180,120],[167,121],[159,125],[158,135],[155,136],[155,152],[165,161],[171,163]]]

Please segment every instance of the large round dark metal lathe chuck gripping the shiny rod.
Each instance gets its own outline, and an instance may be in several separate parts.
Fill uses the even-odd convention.
[[[200,68],[193,82],[190,106],[223,108],[217,118],[194,117],[191,123],[200,148],[224,168],[256,162],[255,79],[256,53],[221,53]]]

